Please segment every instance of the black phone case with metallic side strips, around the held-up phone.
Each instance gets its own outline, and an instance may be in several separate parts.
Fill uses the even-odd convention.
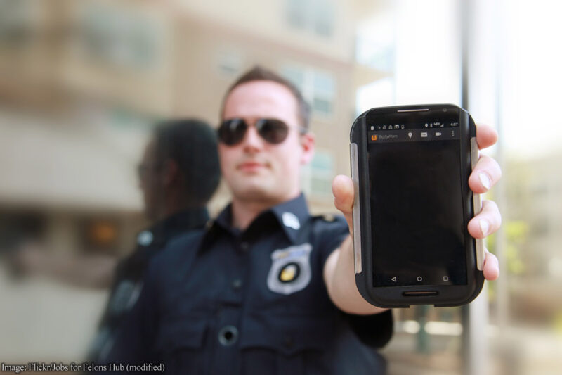
[[[452,291],[454,286],[379,286],[372,282],[372,239],[370,223],[370,193],[367,170],[367,117],[370,113],[388,110],[416,110],[419,108],[458,108],[459,131],[462,155],[462,184],[463,204],[466,215],[464,217],[465,249],[468,287],[464,295]],[[469,189],[469,176],[473,164],[478,160],[478,146],[476,144],[476,125],[469,113],[452,104],[432,104],[417,106],[395,106],[372,108],[362,113],[353,122],[350,132],[351,177],[355,185],[355,203],[353,205],[353,244],[355,254],[355,284],[365,300],[379,307],[410,307],[410,305],[435,305],[436,307],[459,306],[470,303],[481,292],[484,284],[483,244],[482,240],[473,239],[468,232],[468,222],[481,210],[479,194],[473,194]],[[476,211],[476,213],[475,213]],[[478,248],[478,254],[477,254]],[[478,264],[477,264],[478,263]],[[480,269],[479,269],[480,268]],[[370,276],[371,275],[371,276]],[[449,289],[449,291],[447,291]],[[437,291],[437,295],[405,296],[404,292]],[[399,294],[398,294],[399,293]],[[425,293],[425,292],[424,292]]]

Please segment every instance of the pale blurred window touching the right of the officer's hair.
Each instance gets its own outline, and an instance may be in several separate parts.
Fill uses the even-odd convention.
[[[301,91],[316,115],[325,118],[332,116],[336,80],[331,73],[311,67],[286,65],[281,69],[281,74]]]

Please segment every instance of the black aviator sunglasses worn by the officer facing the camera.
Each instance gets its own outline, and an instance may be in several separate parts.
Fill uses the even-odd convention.
[[[239,144],[248,129],[249,125],[241,118],[233,118],[225,120],[220,127],[218,127],[218,140],[228,146]],[[268,141],[270,144],[280,144],[287,139],[289,134],[289,126],[275,118],[261,118],[256,121],[256,129],[261,138]],[[306,133],[306,129],[299,128],[301,134]]]

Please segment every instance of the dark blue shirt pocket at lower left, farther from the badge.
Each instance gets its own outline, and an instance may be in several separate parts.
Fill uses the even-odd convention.
[[[190,374],[206,372],[203,345],[208,326],[207,319],[202,317],[181,316],[162,321],[155,351],[166,373],[179,374],[182,369],[190,369]]]

